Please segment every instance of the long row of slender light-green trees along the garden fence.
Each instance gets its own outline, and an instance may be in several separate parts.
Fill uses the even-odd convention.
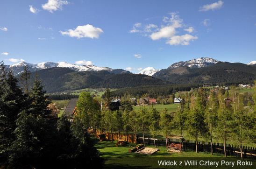
[[[108,106],[111,92],[106,91],[105,103]],[[120,110],[105,109],[100,113],[100,122],[97,126],[102,132],[105,130],[118,132],[124,131],[142,133],[143,142],[145,131],[153,138],[156,135],[164,135],[166,138],[174,131],[179,131],[181,141],[184,132],[192,136],[196,141],[198,152],[198,140],[203,138],[210,141],[213,154],[213,139],[223,141],[224,154],[228,141],[236,141],[241,146],[245,142],[256,142],[256,94],[249,96],[241,94],[235,86],[231,90],[210,90],[197,88],[194,92],[181,94],[182,102],[175,113],[158,112],[156,108],[150,110],[142,108],[139,112],[132,109],[129,100],[121,102]],[[106,106],[106,107],[107,107]],[[155,139],[154,139],[155,140]],[[167,146],[167,139],[166,139]]]

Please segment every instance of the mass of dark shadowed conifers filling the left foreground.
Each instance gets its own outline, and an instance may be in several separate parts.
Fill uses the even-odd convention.
[[[24,92],[0,63],[0,168],[101,168],[82,118],[53,118],[40,80],[29,90],[28,70],[21,77]]]

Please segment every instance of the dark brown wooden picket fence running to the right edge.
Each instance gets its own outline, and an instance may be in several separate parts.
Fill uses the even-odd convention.
[[[169,143],[181,143],[181,139],[170,139],[168,138]],[[142,136],[137,137],[137,144],[143,144]],[[145,145],[153,146],[154,139],[146,137]],[[165,137],[157,137],[156,138],[156,146],[166,146],[166,138]],[[185,150],[189,149],[192,151],[196,150],[196,141],[193,140],[184,140],[183,148]],[[254,158],[256,159],[256,148],[243,146],[243,157],[245,158]],[[200,152],[211,152],[211,142],[207,141],[198,141],[198,150]],[[227,155],[234,155],[240,157],[240,146],[227,144],[226,145]],[[213,153],[224,154],[224,143],[213,142]]]

